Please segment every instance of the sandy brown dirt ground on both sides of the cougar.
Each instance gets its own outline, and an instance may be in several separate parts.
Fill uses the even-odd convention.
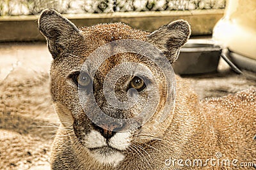
[[[50,169],[58,117],[51,106],[51,55],[45,43],[0,44],[0,169]],[[200,99],[256,87],[228,69],[184,77]]]

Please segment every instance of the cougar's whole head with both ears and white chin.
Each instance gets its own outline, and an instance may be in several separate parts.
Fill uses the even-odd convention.
[[[120,23],[78,29],[56,11],[45,10],[38,23],[54,59],[51,93],[56,112],[63,127],[72,129],[72,140],[82,150],[102,164],[115,166],[137,143],[157,138],[147,132],[164,132],[156,126],[164,112],[168,82],[156,60],[164,55],[170,63],[177,59],[189,38],[187,22],[178,20],[151,34]],[[145,42],[146,46],[138,48],[142,52],[154,46],[161,50],[160,57],[152,60],[129,52],[131,44],[122,46],[127,52],[113,53],[122,39]],[[94,53],[93,58],[93,52],[104,45],[105,51]],[[112,52],[106,60],[99,57],[104,52]],[[164,114],[166,120],[172,118],[172,112]]]

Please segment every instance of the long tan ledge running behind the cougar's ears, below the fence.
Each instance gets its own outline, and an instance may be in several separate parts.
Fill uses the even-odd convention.
[[[154,31],[173,20],[184,19],[191,24],[192,35],[209,35],[224,10],[145,11],[127,13],[100,13],[64,15],[78,27],[99,23],[124,22],[136,29]],[[42,41],[38,31],[38,16],[0,17],[0,41]]]

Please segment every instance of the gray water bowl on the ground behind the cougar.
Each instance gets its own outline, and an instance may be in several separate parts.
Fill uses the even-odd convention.
[[[205,39],[191,39],[172,64],[176,74],[202,74],[217,71],[221,47]]]

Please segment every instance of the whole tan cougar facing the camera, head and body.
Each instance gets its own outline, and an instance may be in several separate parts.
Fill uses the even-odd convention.
[[[53,57],[51,94],[61,121],[52,146],[52,169],[239,169],[242,168],[240,162],[255,163],[255,89],[199,101],[188,82],[175,76],[175,104],[164,121],[160,121],[164,105],[168,103],[167,83],[154,60],[136,53],[115,53],[104,61],[95,58],[95,62],[87,64],[84,73],[81,72],[84,62],[97,48],[120,39],[149,43],[161,50],[172,64],[189,38],[188,22],[177,20],[152,33],[121,23],[77,28],[56,11],[45,10],[38,24]],[[101,64],[92,75],[93,64],[98,62]],[[116,80],[115,96],[118,101],[127,101],[130,89],[136,89],[138,101],[127,110],[116,109],[104,96],[104,80],[111,69],[118,65],[121,70],[127,69],[127,63],[131,62],[150,70],[157,86],[151,85],[152,80],[146,73],[129,67],[133,74]],[[95,101],[90,97],[92,94],[85,92],[81,104],[79,88],[92,89]],[[93,105],[97,103],[110,117],[133,118],[147,105],[150,89],[159,94],[156,111],[149,120],[129,131],[125,131],[126,124],[95,123],[86,113],[95,113],[97,117]],[[144,120],[136,121],[140,124]],[[235,162],[225,166],[220,164],[221,160]]]

